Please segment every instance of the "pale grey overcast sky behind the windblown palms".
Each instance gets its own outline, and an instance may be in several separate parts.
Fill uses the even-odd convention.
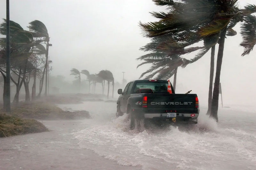
[[[239,5],[247,3],[256,4],[255,0],[240,0]],[[1,0],[0,18],[6,18],[5,7],[5,1]],[[148,68],[136,69],[140,63],[136,58],[145,54],[139,48],[150,41],[142,37],[138,22],[156,21],[149,12],[164,9],[151,0],[10,0],[10,19],[24,29],[35,19],[45,24],[52,43],[49,48],[52,75],[64,75],[73,80],[69,76],[72,68],[86,69],[90,73],[108,69],[115,80],[121,82],[121,72],[131,81]],[[235,29],[239,33],[239,24]],[[253,105],[256,102],[256,49],[241,57],[240,42],[240,34],[228,37],[225,42],[220,79],[223,100],[224,104]],[[218,47],[216,54],[217,50]],[[210,52],[178,70],[177,92],[192,89],[207,103],[209,73]]]

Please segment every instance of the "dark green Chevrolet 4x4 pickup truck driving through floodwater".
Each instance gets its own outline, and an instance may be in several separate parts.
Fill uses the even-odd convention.
[[[197,123],[199,101],[196,94],[172,94],[168,92],[168,81],[135,80],[129,82],[124,91],[118,89],[116,116],[129,114],[131,128],[136,119],[170,120],[172,123]]]

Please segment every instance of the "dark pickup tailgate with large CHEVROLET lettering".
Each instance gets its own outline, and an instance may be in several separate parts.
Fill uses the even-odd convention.
[[[196,94],[147,94],[148,112],[195,112]]]

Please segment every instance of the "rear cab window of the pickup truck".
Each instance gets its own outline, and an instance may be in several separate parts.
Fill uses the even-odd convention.
[[[153,93],[168,93],[168,82],[138,82],[133,89],[134,93],[140,93],[140,89],[151,89]]]

